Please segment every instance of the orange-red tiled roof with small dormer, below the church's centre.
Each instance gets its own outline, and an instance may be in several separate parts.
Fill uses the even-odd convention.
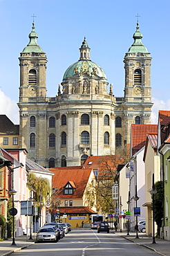
[[[57,196],[61,199],[81,198],[84,194],[86,184],[92,172],[92,170],[76,169],[76,167],[73,169],[68,167],[50,168],[50,171],[55,174],[52,178],[53,188],[57,188],[59,191]],[[72,182],[72,184],[75,185],[74,194],[64,194],[64,187],[68,182]]]

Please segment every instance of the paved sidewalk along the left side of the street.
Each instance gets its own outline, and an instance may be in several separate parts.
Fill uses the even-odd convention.
[[[8,240],[0,241],[0,256],[10,255],[11,253],[16,252],[17,250],[22,250],[23,248],[26,248],[31,244],[34,244],[35,238],[34,236],[32,236],[32,238],[33,239],[28,239],[28,241],[26,241],[26,235],[16,237],[15,244],[17,244],[17,246],[11,246],[11,238]]]

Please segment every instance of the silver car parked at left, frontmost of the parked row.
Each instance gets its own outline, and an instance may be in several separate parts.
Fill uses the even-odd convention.
[[[58,232],[55,232],[53,226],[43,226],[39,228],[36,241],[58,241]]]

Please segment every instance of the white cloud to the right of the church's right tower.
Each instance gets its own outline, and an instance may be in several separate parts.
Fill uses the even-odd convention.
[[[158,111],[159,110],[170,110],[170,100],[164,102],[164,100],[159,100],[156,98],[152,98],[153,107],[151,113],[151,124],[157,125],[158,124]]]

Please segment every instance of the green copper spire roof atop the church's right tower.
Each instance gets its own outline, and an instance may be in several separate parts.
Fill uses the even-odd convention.
[[[148,53],[147,48],[141,42],[142,37],[143,36],[142,33],[140,33],[139,24],[137,23],[136,31],[133,34],[134,42],[129,48],[128,53]]]

